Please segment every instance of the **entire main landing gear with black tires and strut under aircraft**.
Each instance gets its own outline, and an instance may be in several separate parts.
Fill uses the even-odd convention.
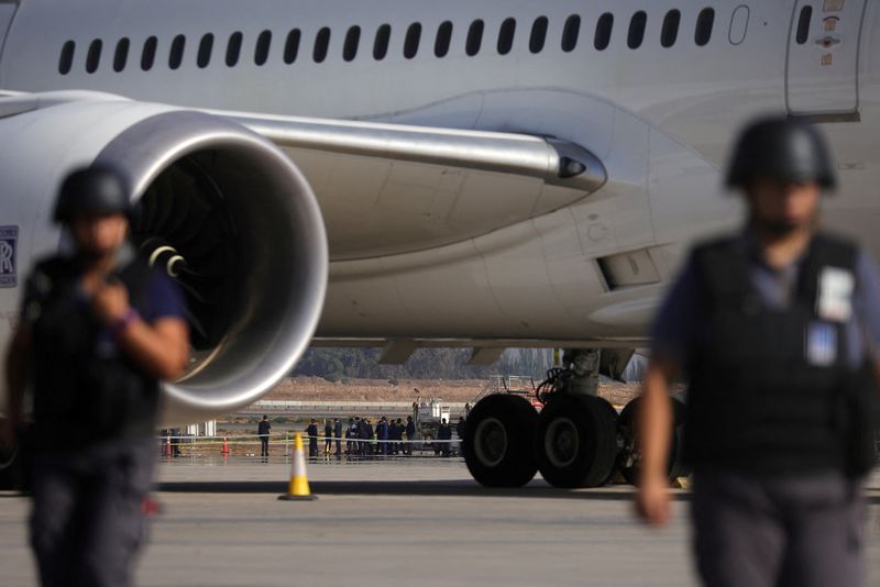
[[[618,416],[598,397],[602,372],[618,377],[631,352],[595,348],[565,351],[565,368],[553,368],[536,389],[540,414],[521,397],[497,394],[483,398],[471,411],[462,444],[474,478],[488,487],[516,487],[536,469],[554,487],[597,487],[619,468],[630,484],[638,483],[641,454],[636,442],[632,400]],[[673,398],[675,418],[668,474],[689,474],[682,459],[684,403]]]

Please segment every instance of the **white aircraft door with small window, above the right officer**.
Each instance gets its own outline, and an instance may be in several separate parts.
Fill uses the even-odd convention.
[[[867,0],[798,0],[785,92],[791,114],[857,117],[858,54]]]

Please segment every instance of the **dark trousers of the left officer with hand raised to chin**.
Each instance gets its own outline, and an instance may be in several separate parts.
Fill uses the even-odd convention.
[[[153,439],[34,455],[31,545],[44,587],[131,585],[154,464]]]

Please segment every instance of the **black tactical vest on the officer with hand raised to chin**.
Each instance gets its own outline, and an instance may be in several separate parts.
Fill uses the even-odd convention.
[[[114,273],[143,311],[150,268],[134,261]],[[158,406],[158,381],[119,347],[79,290],[78,261],[53,257],[34,269],[25,295],[33,335],[35,442],[44,450],[147,436]]]

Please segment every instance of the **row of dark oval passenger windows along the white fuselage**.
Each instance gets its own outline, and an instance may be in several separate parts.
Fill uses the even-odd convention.
[[[715,23],[715,10],[712,8],[703,9],[697,18],[694,29],[694,43],[697,46],[705,46],[712,38],[712,30]],[[648,14],[645,11],[636,12],[629,20],[627,29],[627,46],[631,49],[639,48],[645,40],[645,30],[648,25]],[[681,12],[679,10],[670,10],[667,12],[662,21],[660,32],[660,44],[663,47],[671,47],[675,44],[679,37],[679,30],[681,25]],[[531,30],[528,35],[528,46],[531,53],[540,53],[543,51],[547,43],[547,31],[549,20],[547,16],[539,16],[531,23]],[[437,29],[435,36],[433,53],[437,57],[444,57],[450,49],[452,42],[451,21],[444,21]],[[593,34],[593,46],[596,51],[605,51],[610,44],[612,31],[614,29],[614,14],[606,12],[600,16],[596,22],[596,29]],[[502,22],[498,30],[497,52],[499,55],[507,55],[514,47],[514,37],[516,36],[517,21],[509,18]],[[468,36],[464,43],[464,52],[473,57],[483,48],[483,36],[485,33],[485,23],[482,20],[473,21],[468,27]],[[272,48],[272,31],[263,31],[256,37],[254,46],[254,64],[265,65],[268,62],[270,52]],[[392,27],[389,24],[381,25],[373,38],[373,58],[382,60],[388,53],[388,44],[391,42]],[[421,44],[422,26],[421,23],[414,22],[410,24],[404,36],[404,57],[413,59],[418,55],[419,46]],[[572,14],[565,20],[562,27],[562,37],[560,45],[563,52],[571,53],[578,47],[578,42],[581,36],[581,16]],[[284,63],[293,64],[299,56],[299,45],[302,34],[299,29],[293,29],[284,42]],[[244,42],[242,33],[232,33],[226,46],[226,64],[229,67],[238,65],[241,57],[241,49]],[[345,33],[342,44],[342,58],[345,62],[352,62],[358,56],[358,49],[361,45],[361,27],[358,25],[351,26]],[[207,33],[202,35],[196,52],[196,65],[200,68],[208,67],[211,63],[215,47],[215,35]],[[177,35],[172,40],[170,48],[168,52],[168,67],[172,69],[179,68],[184,63],[184,51],[186,48],[186,36]],[[330,48],[330,29],[324,26],[315,35],[315,46],[312,47],[311,58],[315,63],[323,63],[327,58]],[[86,53],[86,71],[94,74],[98,70],[101,63],[101,53],[103,51],[103,42],[100,38],[94,40]],[[148,37],[144,41],[141,51],[141,69],[148,71],[156,63],[156,52],[158,51],[158,38],[155,36]],[[122,71],[128,66],[129,54],[131,52],[131,41],[127,37],[121,38],[113,52],[113,70]],[[76,53],[76,43],[67,41],[62,47],[61,59],[58,62],[58,71],[62,75],[69,74],[74,65],[74,55]]]

